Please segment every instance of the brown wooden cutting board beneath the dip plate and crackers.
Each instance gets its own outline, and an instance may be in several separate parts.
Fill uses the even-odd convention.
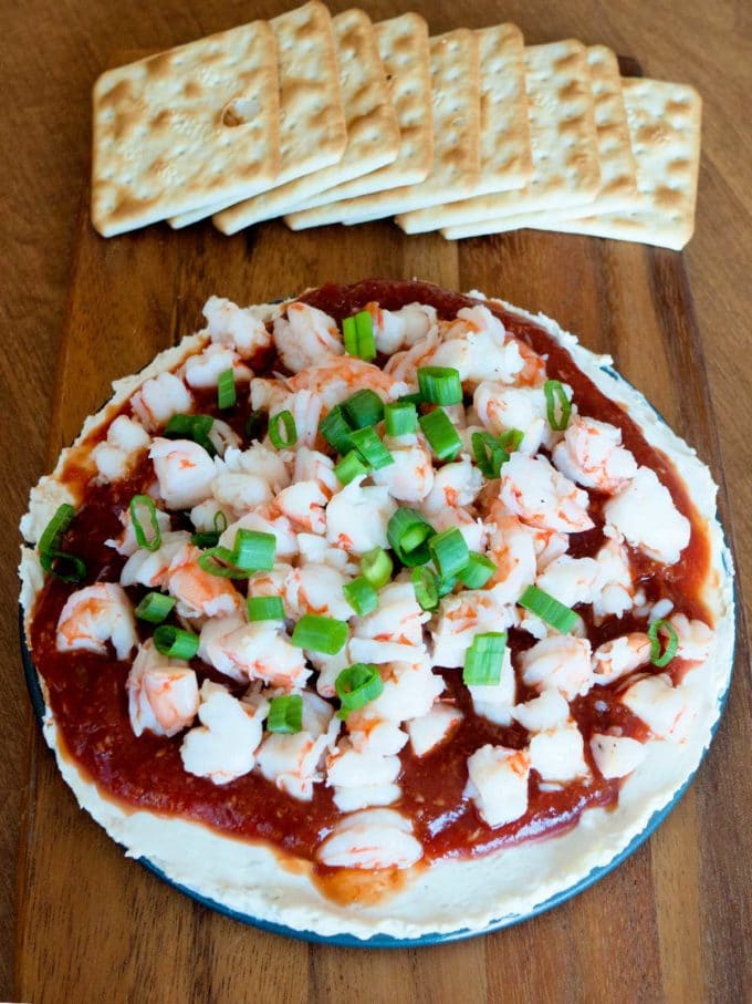
[[[82,206],[50,465],[108,394],[201,324],[211,294],[253,303],[326,280],[424,278],[542,310],[610,353],[722,484],[701,343],[680,255],[521,231],[450,244],[388,222],[226,238],[210,225],[109,241]],[[744,653],[739,653],[744,660]],[[745,664],[742,662],[741,664]],[[18,993],[24,1001],[733,1000],[741,938],[713,862],[730,748],[713,748],[671,817],[614,873],[494,935],[394,952],[309,945],[244,928],[161,884],[81,812],[29,725]],[[720,793],[720,794],[719,794]],[[710,863],[709,863],[710,862]],[[743,942],[742,942],[743,944]],[[720,950],[719,950],[720,949]],[[735,963],[734,960],[735,959]],[[730,991],[727,995],[723,989]],[[716,997],[718,994],[718,997]]]

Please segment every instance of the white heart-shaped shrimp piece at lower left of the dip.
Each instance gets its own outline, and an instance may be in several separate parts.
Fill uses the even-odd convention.
[[[253,769],[263,728],[261,714],[209,680],[203,681],[199,697],[201,725],[186,733],[180,746],[182,766],[189,774],[226,785]]]

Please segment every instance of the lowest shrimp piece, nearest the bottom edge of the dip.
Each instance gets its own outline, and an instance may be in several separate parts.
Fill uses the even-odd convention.
[[[409,868],[422,857],[422,847],[400,812],[366,809],[341,819],[316,857],[327,868]]]

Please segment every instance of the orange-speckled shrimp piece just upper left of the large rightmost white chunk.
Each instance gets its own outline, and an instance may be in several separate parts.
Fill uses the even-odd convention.
[[[594,526],[587,493],[543,456],[513,453],[501,468],[499,497],[510,513],[533,527],[576,534]]]

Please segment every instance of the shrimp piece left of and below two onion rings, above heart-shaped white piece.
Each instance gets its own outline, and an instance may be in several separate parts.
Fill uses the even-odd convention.
[[[304,686],[311,675],[302,650],[273,621],[238,625],[234,618],[210,620],[201,629],[199,654],[234,680],[261,680],[285,690]]]

